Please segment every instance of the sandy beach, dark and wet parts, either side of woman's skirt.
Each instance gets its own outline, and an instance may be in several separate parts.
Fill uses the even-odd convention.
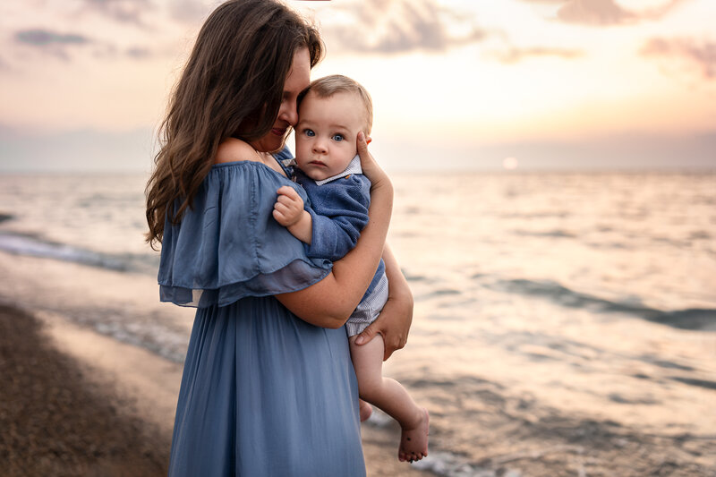
[[[181,364],[2,302],[0,358],[4,475],[166,475]],[[369,476],[431,475],[398,462],[399,434],[362,436]]]

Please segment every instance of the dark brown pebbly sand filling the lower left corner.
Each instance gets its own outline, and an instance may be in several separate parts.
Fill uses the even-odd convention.
[[[132,402],[87,379],[50,345],[41,323],[0,306],[0,468],[32,475],[166,474],[158,429],[125,410]]]

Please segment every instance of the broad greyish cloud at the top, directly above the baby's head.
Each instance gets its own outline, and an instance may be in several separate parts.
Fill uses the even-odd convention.
[[[397,54],[445,51],[480,41],[486,32],[467,14],[456,14],[430,0],[368,0],[337,10],[350,22],[321,30],[328,44],[357,53]]]

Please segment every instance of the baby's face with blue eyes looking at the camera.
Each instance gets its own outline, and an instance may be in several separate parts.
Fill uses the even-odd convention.
[[[355,141],[366,123],[365,106],[354,93],[320,98],[309,91],[298,110],[296,164],[320,181],[343,172],[355,157]]]

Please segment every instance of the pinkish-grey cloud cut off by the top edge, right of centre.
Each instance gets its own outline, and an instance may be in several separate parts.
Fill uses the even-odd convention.
[[[634,11],[619,6],[614,0],[523,0],[530,3],[562,4],[557,18],[566,23],[592,26],[623,25],[639,21],[659,20],[686,0],[669,0],[661,6]]]

